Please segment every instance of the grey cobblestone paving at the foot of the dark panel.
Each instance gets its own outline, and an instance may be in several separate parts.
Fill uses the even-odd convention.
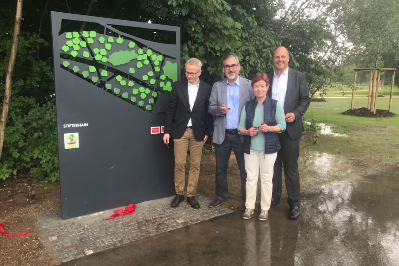
[[[49,256],[66,262],[233,212],[223,206],[210,209],[207,205],[213,196],[197,193],[196,197],[200,209],[191,208],[186,201],[172,208],[172,196],[139,203],[132,215],[107,221],[103,219],[114,209],[67,220],[61,219],[59,211],[49,213],[38,218],[41,244]]]

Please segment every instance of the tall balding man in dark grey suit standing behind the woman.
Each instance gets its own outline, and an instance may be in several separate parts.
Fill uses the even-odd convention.
[[[299,218],[300,183],[298,172],[299,140],[302,136],[302,116],[310,104],[306,75],[288,67],[290,56],[284,46],[273,54],[275,71],[268,74],[268,97],[278,100],[284,107],[286,130],[279,134],[281,150],[277,153],[273,175],[271,206],[280,204],[282,190],[282,166],[290,205],[288,218]]]

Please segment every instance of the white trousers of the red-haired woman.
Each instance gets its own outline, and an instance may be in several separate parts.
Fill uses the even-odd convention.
[[[244,153],[245,171],[247,172],[247,200],[245,207],[255,209],[256,189],[261,170],[261,209],[269,211],[273,191],[273,167],[277,158],[277,152],[264,154],[264,151],[250,150],[251,154]]]

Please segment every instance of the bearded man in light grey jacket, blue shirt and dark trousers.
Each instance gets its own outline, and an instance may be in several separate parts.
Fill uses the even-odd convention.
[[[227,202],[229,194],[227,187],[227,166],[234,150],[237,165],[241,176],[241,198],[245,201],[245,172],[243,136],[239,135],[237,128],[243,106],[255,98],[251,81],[239,76],[240,62],[234,55],[229,55],[223,61],[223,72],[226,79],[213,84],[209,98],[209,114],[216,116],[215,129],[213,130],[213,143],[215,144],[216,157],[216,197],[209,204],[216,208]]]

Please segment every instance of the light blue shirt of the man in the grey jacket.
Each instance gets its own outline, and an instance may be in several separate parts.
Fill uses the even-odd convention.
[[[231,108],[226,114],[226,129],[237,129],[240,122],[240,77],[230,85],[227,80],[227,104]]]

